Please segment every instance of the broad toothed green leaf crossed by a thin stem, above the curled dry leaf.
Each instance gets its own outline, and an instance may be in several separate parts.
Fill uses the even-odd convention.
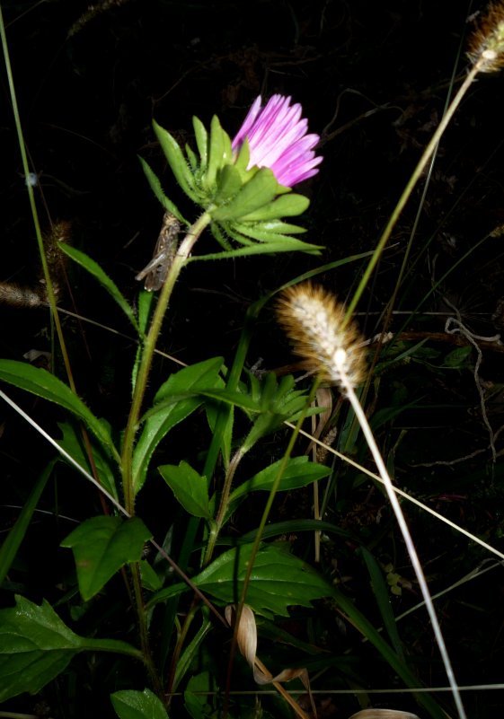
[[[251,557],[252,544],[230,549],[193,579],[202,592],[225,604],[239,600],[243,578]],[[310,602],[332,593],[311,566],[289,554],[284,545],[263,545],[252,568],[246,602],[265,617],[288,616],[287,607],[309,607]]]

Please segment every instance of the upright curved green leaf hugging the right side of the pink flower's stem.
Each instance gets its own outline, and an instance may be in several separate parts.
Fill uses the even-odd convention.
[[[171,396],[185,394],[183,399],[175,400],[172,404],[168,401],[160,406],[155,406],[144,416],[144,427],[138,439],[133,454],[133,487],[137,493],[146,481],[146,473],[155,448],[164,436],[178,425],[182,419],[189,416],[202,403],[203,398],[199,395],[188,397],[188,393],[199,388],[208,389],[214,387],[219,380],[219,370],[222,366],[222,357],[212,357],[204,362],[184,367],[180,372],[172,374],[168,381],[165,381],[155,395],[155,403],[161,403]]]

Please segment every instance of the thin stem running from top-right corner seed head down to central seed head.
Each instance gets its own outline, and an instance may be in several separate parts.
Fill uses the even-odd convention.
[[[345,322],[349,322],[349,320],[353,317],[353,313],[355,311],[355,308],[357,307],[360,297],[362,296],[362,293],[364,292],[364,290],[367,286],[369,277],[373,273],[373,270],[376,267],[378,259],[380,259],[380,256],[385,248],[385,244],[390,239],[393,228],[395,227],[395,224],[397,224],[399,216],[401,215],[402,210],[404,209],[404,206],[406,205],[406,203],[408,202],[408,200],[411,196],[411,192],[413,191],[418,180],[420,180],[420,175],[425,170],[432,153],[435,152],[436,147],[438,146],[438,142],[441,139],[441,136],[443,136],[443,133],[447,129],[451,118],[453,118],[453,116],[455,114],[455,110],[460,105],[461,101],[464,98],[465,93],[468,91],[470,85],[473,83],[474,78],[482,70],[482,67],[485,65],[486,62],[487,61],[484,58],[480,58],[480,60],[473,65],[473,67],[467,74],[467,77],[465,78],[464,83],[462,83],[462,85],[460,86],[453,101],[451,102],[449,108],[447,109],[446,115],[442,118],[441,122],[439,123],[439,126],[438,126],[436,132],[434,133],[434,135],[432,136],[432,138],[429,142],[429,145],[427,145],[422,156],[420,157],[420,162],[418,163],[415,170],[413,171],[411,178],[408,181],[408,184],[403,189],[402,195],[399,198],[399,201],[393,210],[390,220],[388,221],[388,223],[385,227],[385,230],[384,230],[382,236],[380,237],[378,244],[376,245],[376,250],[374,251],[372,258],[369,260],[366,271],[364,272],[364,275],[362,276],[362,279],[360,280],[360,282],[358,284],[357,291],[354,294],[354,296],[352,297],[351,302],[349,303],[347,313],[345,315]]]

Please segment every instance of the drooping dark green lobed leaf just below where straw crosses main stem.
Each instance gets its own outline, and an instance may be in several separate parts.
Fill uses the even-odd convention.
[[[84,601],[100,592],[105,583],[128,562],[138,562],[152,534],[137,517],[93,517],[61,542],[72,548],[79,590]]]

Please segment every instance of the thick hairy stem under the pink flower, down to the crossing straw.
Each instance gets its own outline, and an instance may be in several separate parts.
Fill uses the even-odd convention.
[[[164,282],[161,294],[155,307],[154,317],[151,322],[148,334],[145,338],[142,356],[138,367],[137,381],[135,382],[135,390],[131,408],[129,410],[128,424],[124,434],[122,445],[121,465],[122,465],[122,483],[124,493],[124,505],[129,514],[135,513],[135,487],[133,484],[133,448],[135,443],[135,434],[137,434],[138,420],[140,411],[146,393],[147,380],[150,373],[152,359],[155,353],[155,346],[164,320],[164,315],[168,309],[168,303],[172,296],[173,287],[181,274],[182,267],[187,263],[190,251],[194,243],[198,240],[199,235],[205,227],[210,223],[210,215],[204,213],[190,227],[181,246],[172,262],[172,267],[168,272],[166,281]]]

